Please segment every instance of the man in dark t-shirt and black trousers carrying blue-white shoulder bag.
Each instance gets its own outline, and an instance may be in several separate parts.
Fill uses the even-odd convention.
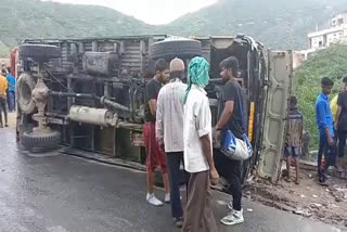
[[[230,56],[220,63],[220,76],[224,82],[222,92],[223,111],[219,117],[219,121],[214,128],[215,138],[223,136],[230,130],[236,139],[243,140],[245,133],[243,117],[243,94],[244,90],[235,80],[237,77],[239,61],[234,56]],[[221,219],[227,225],[239,224],[244,221],[242,209],[242,162],[233,160],[227,157],[219,150],[214,151],[214,158],[218,172],[228,180],[232,194],[232,204],[229,204],[231,211]]]

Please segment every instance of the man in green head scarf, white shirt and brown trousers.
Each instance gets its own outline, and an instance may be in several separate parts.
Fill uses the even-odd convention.
[[[210,182],[217,184],[213,159],[211,114],[204,87],[208,85],[209,64],[194,57],[189,64],[184,98],[184,169],[190,172],[183,232],[217,232],[211,208]]]

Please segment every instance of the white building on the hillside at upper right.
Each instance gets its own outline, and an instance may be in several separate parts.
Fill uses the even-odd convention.
[[[331,27],[308,34],[309,49],[318,50],[330,47],[347,38],[347,13],[338,14],[331,20]]]

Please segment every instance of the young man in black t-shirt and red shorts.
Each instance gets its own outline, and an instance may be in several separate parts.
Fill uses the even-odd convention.
[[[155,63],[155,76],[145,86],[145,108],[143,126],[143,137],[146,151],[147,169],[147,195],[146,202],[154,206],[163,206],[163,202],[154,195],[155,169],[159,166],[163,173],[165,186],[165,202],[170,202],[169,178],[166,166],[166,156],[159,147],[155,134],[156,101],[159,90],[169,77],[169,65],[160,59]]]

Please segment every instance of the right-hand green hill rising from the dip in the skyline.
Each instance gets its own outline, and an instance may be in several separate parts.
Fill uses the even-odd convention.
[[[268,48],[303,49],[316,25],[327,26],[344,10],[347,0],[219,0],[163,29],[183,35],[245,34]]]

